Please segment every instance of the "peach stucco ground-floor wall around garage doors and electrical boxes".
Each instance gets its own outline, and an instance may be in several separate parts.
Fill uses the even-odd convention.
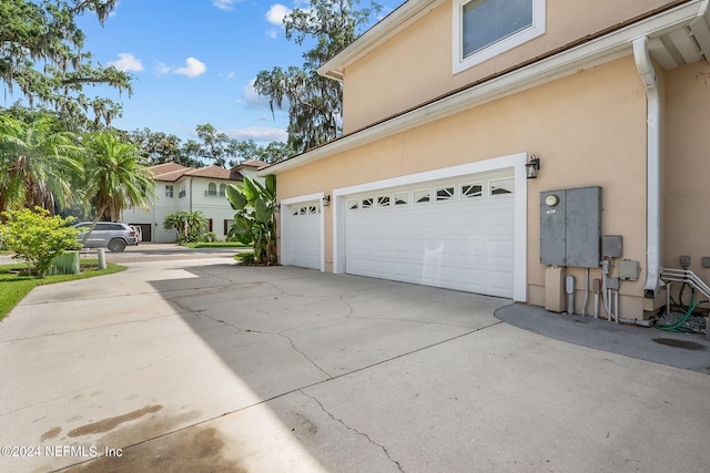
[[[278,175],[278,199],[520,152],[542,160],[539,178],[527,182],[529,302],[545,302],[542,191],[601,186],[604,232],[623,235],[625,257],[645,261],[646,181],[639,176],[646,175],[646,94],[631,56],[285,171]],[[326,270],[332,270],[333,206],[325,207],[324,218]],[[582,269],[568,274],[584,280]],[[642,278],[625,282],[621,312],[640,318],[642,294]]]

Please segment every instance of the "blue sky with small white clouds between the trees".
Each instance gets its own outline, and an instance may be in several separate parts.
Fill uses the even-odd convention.
[[[133,95],[98,88],[123,103],[116,127],[194,137],[210,123],[237,140],[285,141],[287,117],[275,120],[251,84],[256,73],[278,65],[302,65],[304,49],[284,34],[283,17],[306,1],[121,0],[100,27],[84,18],[84,49],[93,61],[130,72]],[[379,1],[381,17],[404,3]],[[364,6],[368,2],[363,1]]]

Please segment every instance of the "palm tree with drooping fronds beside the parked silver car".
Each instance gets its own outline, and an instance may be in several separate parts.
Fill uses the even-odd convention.
[[[148,207],[154,197],[154,178],[140,164],[135,145],[100,132],[85,136],[84,152],[85,199],[95,210],[91,229],[100,218],[118,220],[124,208]]]

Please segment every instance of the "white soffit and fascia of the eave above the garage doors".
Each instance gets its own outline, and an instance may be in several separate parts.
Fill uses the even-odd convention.
[[[379,124],[324,144],[304,154],[274,164],[257,175],[278,174],[320,161],[376,140],[440,120],[445,116],[501,99],[537,85],[571,75],[632,53],[632,41],[649,37],[650,52],[665,69],[683,64],[687,59],[710,56],[710,0],[694,0],[657,16],[630,24],[618,31],[582,43],[559,54],[542,59],[508,74],[500,75],[476,86],[447,95],[436,102],[394,116]],[[419,2],[413,2],[418,4]],[[407,4],[407,3],[405,3]],[[688,42],[688,31],[696,28],[699,37],[707,34],[708,42],[699,43],[699,37]],[[369,44],[369,43],[368,43]],[[682,49],[682,52],[679,50]],[[347,49],[345,50],[347,51]],[[339,55],[338,55],[339,56]],[[674,64],[674,65],[672,65]],[[667,66],[668,65],[668,66]],[[671,66],[672,65],[672,66]]]

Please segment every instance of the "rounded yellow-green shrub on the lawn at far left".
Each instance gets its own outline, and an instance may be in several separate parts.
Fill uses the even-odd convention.
[[[14,251],[12,258],[24,260],[39,277],[44,276],[55,256],[78,247],[79,230],[68,226],[72,217],[50,217],[41,207],[8,210],[3,215],[7,223],[1,233],[8,248]]]

